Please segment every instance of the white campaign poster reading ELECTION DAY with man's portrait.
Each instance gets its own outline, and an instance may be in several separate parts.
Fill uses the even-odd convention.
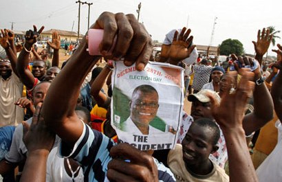
[[[111,126],[120,142],[139,150],[174,148],[184,104],[184,69],[149,62],[143,71],[135,64],[114,62]]]

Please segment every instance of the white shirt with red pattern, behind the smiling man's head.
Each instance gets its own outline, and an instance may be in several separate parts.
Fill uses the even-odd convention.
[[[194,119],[191,115],[188,115],[183,111],[182,113],[182,124],[180,124],[180,133],[178,134],[177,144],[181,144],[182,140],[184,139],[188,129],[190,128],[191,124],[194,122]],[[216,163],[221,168],[224,168],[225,163],[228,159],[227,154],[227,148],[226,148],[226,142],[224,139],[224,134],[222,133],[220,127],[220,138],[219,141],[217,141],[217,146],[219,146],[218,150],[214,152],[213,154],[210,154],[210,157],[208,157],[211,161]]]

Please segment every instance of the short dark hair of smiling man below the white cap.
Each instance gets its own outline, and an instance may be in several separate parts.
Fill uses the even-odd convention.
[[[213,145],[217,144],[217,141],[220,137],[220,130],[219,126],[217,126],[217,124],[212,119],[203,117],[198,120],[195,120],[193,124],[197,124],[198,126],[202,126],[211,130],[213,132],[213,136],[210,137],[213,137]]]

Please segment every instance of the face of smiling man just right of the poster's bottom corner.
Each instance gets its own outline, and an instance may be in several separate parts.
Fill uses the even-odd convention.
[[[189,165],[197,165],[208,160],[217,148],[213,146],[213,132],[204,126],[192,124],[182,141],[183,160]]]

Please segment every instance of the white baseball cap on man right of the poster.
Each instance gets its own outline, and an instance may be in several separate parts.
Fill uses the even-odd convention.
[[[199,102],[210,102],[210,98],[208,98],[206,93],[212,93],[214,98],[220,102],[220,97],[215,91],[211,91],[208,89],[204,89],[199,91],[198,93],[193,93],[188,95],[188,101],[194,102],[195,100],[199,100]]]

